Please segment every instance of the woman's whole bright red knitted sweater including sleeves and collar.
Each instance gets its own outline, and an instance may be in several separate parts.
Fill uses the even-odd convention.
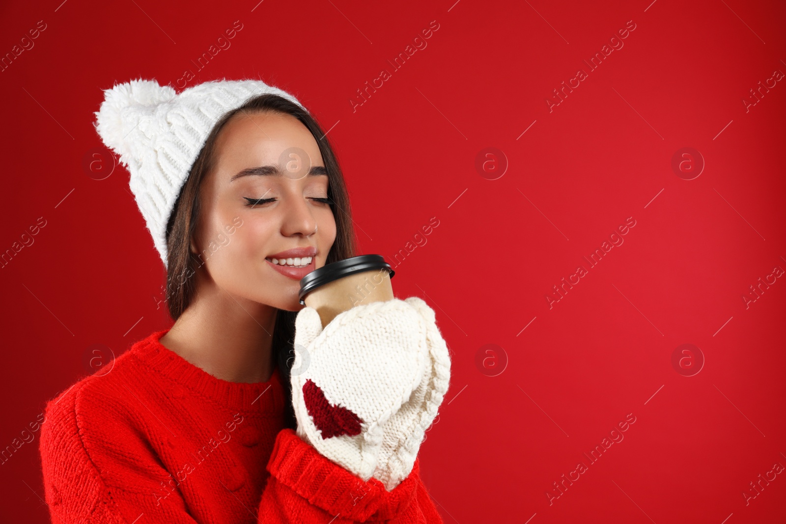
[[[285,427],[266,383],[211,376],[154,332],[46,405],[40,452],[53,522],[441,523],[420,461],[391,492]]]

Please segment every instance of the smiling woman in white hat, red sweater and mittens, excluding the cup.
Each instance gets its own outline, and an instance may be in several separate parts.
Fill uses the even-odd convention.
[[[374,302],[323,330],[298,301],[306,273],[354,255],[310,113],[258,80],[176,94],[140,79],[96,115],[167,266],[174,325],[47,404],[54,522],[442,522],[416,458],[450,378],[433,310]],[[293,395],[304,374],[319,387]]]

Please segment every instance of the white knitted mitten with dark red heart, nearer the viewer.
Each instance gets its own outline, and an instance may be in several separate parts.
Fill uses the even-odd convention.
[[[297,434],[368,481],[380,466],[385,424],[431,366],[426,329],[417,307],[400,299],[354,306],[324,330],[316,310],[300,310],[291,375]]]

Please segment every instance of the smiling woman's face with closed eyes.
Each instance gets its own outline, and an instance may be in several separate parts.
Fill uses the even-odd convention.
[[[317,141],[291,115],[241,112],[215,145],[191,243],[197,272],[237,298],[302,309],[299,281],[325,265],[336,240],[336,220],[321,201],[328,176]]]

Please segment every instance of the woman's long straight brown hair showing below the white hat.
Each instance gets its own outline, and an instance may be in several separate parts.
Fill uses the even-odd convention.
[[[352,228],[347,186],[338,159],[324,130],[309,112],[285,97],[270,93],[251,97],[241,107],[226,112],[215,123],[191,167],[167,222],[167,306],[174,321],[178,320],[192,302],[196,293],[196,269],[204,263],[197,255],[191,253],[190,244],[192,236],[196,233],[197,218],[200,215],[201,182],[215,167],[215,143],[219,134],[235,115],[270,112],[294,116],[307,127],[319,145],[325,169],[328,171],[328,198],[332,201],[330,208],[336,219],[336,240],[330,248],[325,263],[354,256],[356,239]],[[277,366],[287,394],[285,421],[288,427],[293,429],[296,427],[296,419],[292,410],[292,387],[289,377],[295,357],[296,316],[296,311],[277,311],[272,341],[272,350],[275,352]]]

